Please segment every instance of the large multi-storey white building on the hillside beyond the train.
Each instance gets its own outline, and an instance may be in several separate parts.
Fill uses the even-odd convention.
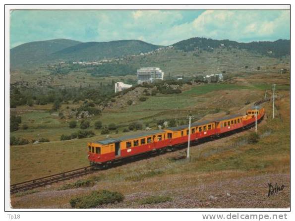
[[[141,67],[137,69],[138,84],[163,80],[164,72],[159,67]]]

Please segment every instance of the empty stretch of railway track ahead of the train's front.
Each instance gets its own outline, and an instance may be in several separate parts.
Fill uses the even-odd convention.
[[[54,175],[44,176],[41,178],[32,179],[32,180],[28,180],[28,181],[21,182],[21,183],[15,183],[15,184],[10,185],[10,194],[17,193],[20,191],[27,191],[27,190],[35,189],[37,187],[49,185],[49,184],[63,181],[66,179],[79,177],[82,175],[92,173],[94,171],[95,171],[94,166],[85,166],[85,167],[57,173]]]

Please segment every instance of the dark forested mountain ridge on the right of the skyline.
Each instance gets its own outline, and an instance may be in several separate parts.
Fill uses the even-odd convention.
[[[250,52],[259,53],[271,57],[281,57],[290,55],[290,40],[279,39],[274,42],[250,42],[239,43],[230,40],[213,40],[210,38],[190,38],[177,42],[173,45],[174,48],[184,52],[195,50],[212,51],[214,48],[227,48],[227,49],[245,49]]]

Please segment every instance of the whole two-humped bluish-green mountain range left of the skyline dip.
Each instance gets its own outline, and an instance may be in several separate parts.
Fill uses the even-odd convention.
[[[55,39],[30,42],[10,50],[10,66],[13,68],[57,61],[93,61],[122,55],[137,55],[153,51],[159,47],[161,46],[138,40],[81,43],[66,39]]]

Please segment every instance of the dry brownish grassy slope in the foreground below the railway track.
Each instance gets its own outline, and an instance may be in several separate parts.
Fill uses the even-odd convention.
[[[289,207],[290,96],[282,92],[275,119],[268,117],[271,103],[264,107],[266,118],[258,125],[260,139],[256,144],[240,142],[251,133],[245,131],[192,148],[190,163],[171,160],[183,151],[169,153],[84,177],[98,180],[92,187],[60,190],[60,185],[73,183],[74,179],[40,192],[13,196],[12,205],[14,208],[69,208],[71,198],[107,188],[123,193],[125,200],[100,208]],[[73,161],[82,161],[80,156],[76,158]],[[284,184],[284,191],[267,197],[268,182]],[[154,195],[170,200],[143,203]]]

